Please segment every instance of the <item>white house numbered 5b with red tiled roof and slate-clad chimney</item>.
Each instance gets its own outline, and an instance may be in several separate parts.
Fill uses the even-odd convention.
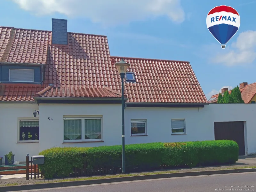
[[[111,56],[107,36],[67,29],[61,19],[52,31],[0,27],[0,156],[121,145],[121,59],[126,144],[214,140],[215,112],[188,61]]]

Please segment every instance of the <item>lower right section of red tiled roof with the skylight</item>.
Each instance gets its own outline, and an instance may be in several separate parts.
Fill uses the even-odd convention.
[[[115,74],[114,78],[118,79],[118,83],[115,82],[109,88],[117,91],[120,90],[121,79],[117,77],[118,72],[114,63],[119,60],[121,57],[111,57],[112,71]],[[137,81],[144,79],[140,83],[124,83],[124,94],[129,98],[129,102],[207,103],[189,62],[140,58],[124,58],[124,60],[131,64],[128,72],[134,72]],[[185,87],[191,90],[190,98],[185,97],[188,94]],[[139,93],[130,90],[145,91]]]

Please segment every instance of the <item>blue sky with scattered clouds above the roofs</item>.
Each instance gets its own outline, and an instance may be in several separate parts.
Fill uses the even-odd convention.
[[[246,3],[243,3],[246,2]],[[210,34],[206,16],[223,0],[9,0],[0,25],[51,30],[68,19],[68,31],[108,36],[112,56],[189,61],[209,99],[222,87],[254,83],[256,1],[225,0],[241,25],[226,49]]]

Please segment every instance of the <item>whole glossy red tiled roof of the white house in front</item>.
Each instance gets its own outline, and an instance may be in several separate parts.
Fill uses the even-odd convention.
[[[120,97],[121,78],[114,64],[121,57],[110,56],[106,36],[68,33],[68,45],[52,44],[51,38],[51,31],[0,27],[1,63],[45,66],[42,86],[31,84],[22,88],[20,84],[12,85],[22,90],[30,87],[35,92],[15,92],[16,95],[9,92],[4,98],[9,98],[8,101],[12,101],[11,98],[33,101],[36,93],[36,97],[45,98]],[[124,60],[131,64],[128,71],[134,72],[136,77],[136,83],[124,83],[128,102],[207,103],[189,62]],[[30,99],[23,96],[29,94]]]

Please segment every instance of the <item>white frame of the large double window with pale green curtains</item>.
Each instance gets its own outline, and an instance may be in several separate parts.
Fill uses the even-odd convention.
[[[75,119],[81,119],[81,129],[82,129],[82,139],[81,140],[65,140],[65,121],[64,120],[75,120]],[[84,139],[84,120],[85,119],[101,119],[101,139]],[[103,121],[102,117],[63,117],[63,143],[79,143],[79,142],[94,142],[94,141],[102,141],[103,138]]]

